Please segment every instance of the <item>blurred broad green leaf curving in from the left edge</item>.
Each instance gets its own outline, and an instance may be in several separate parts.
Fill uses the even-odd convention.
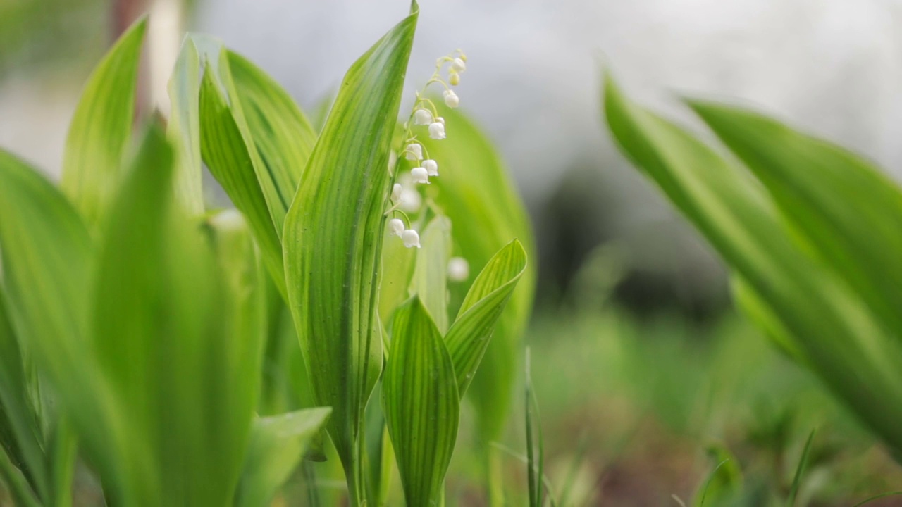
[[[109,446],[118,441],[117,434],[109,425],[110,400],[98,383],[86,331],[94,250],[87,226],[60,191],[0,151],[0,257],[7,309],[20,348],[47,375],[60,402],[54,410],[81,429],[81,438]],[[60,423],[56,414],[43,417]],[[67,483],[74,449],[69,450],[69,438],[47,444],[45,451],[52,454],[47,455],[45,494],[59,493],[63,502],[68,492],[51,490]],[[115,469],[104,456],[87,455],[99,469]]]

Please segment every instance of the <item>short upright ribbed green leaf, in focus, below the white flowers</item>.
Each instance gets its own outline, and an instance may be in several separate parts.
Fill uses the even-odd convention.
[[[382,405],[408,505],[438,505],[460,419],[451,356],[414,296],[391,323]]]

